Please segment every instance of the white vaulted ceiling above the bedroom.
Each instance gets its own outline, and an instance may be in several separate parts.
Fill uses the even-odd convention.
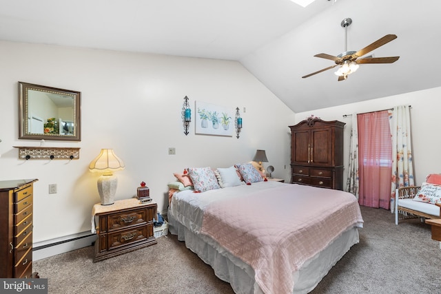
[[[441,86],[441,1],[0,0],[0,40],[234,60],[294,112]],[[337,81],[334,70],[301,78],[386,34],[364,64]]]

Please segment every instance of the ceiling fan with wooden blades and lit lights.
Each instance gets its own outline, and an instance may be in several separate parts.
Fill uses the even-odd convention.
[[[314,76],[314,74],[319,74],[320,72],[325,72],[325,70],[331,70],[338,65],[340,67],[335,72],[338,76],[338,81],[344,81],[347,79],[347,76],[358,69],[359,64],[365,63],[394,63],[397,61],[400,56],[391,56],[391,57],[372,57],[367,56],[365,58],[359,59],[359,57],[364,56],[365,54],[371,52],[379,48],[380,46],[389,43],[390,41],[397,38],[396,34],[387,34],[377,41],[371,43],[371,45],[367,45],[365,48],[358,51],[347,51],[347,27],[351,25],[352,19],[347,18],[342,20],[342,27],[345,28],[345,52],[338,54],[337,56],[332,56],[325,53],[320,53],[314,55],[314,57],[320,57],[322,59],[330,59],[334,61],[336,64],[326,67],[322,70],[318,70],[317,72],[313,72],[311,74],[307,74],[306,76],[302,76],[302,78],[307,78],[309,76]]]

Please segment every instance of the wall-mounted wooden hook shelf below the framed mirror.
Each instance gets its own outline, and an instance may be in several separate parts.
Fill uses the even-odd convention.
[[[79,147],[30,147],[13,146],[19,149],[20,159],[79,159]]]

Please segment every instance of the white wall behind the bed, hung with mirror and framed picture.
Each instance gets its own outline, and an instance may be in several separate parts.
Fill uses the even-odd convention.
[[[99,196],[98,175],[88,165],[101,148],[113,148],[126,165],[116,173],[116,199],[134,196],[145,181],[161,212],[173,172],[249,162],[256,149],[266,150],[264,165],[275,167],[274,177],[289,180],[287,126],[294,113],[238,62],[1,41],[0,64],[0,180],[39,179],[34,242],[90,230]],[[39,146],[18,140],[18,81],[81,91],[81,142],[46,140],[47,146],[80,147],[79,160],[18,159],[13,146]],[[194,101],[240,107],[240,138],[195,135],[194,122],[185,136],[184,96],[192,114]],[[168,147],[176,155],[168,155]],[[49,184],[58,185],[57,194],[48,193]]]

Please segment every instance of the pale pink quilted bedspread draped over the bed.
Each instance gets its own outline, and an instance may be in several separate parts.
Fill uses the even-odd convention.
[[[350,193],[283,185],[209,204],[201,233],[252,266],[267,294],[292,293],[293,273],[362,216]]]

